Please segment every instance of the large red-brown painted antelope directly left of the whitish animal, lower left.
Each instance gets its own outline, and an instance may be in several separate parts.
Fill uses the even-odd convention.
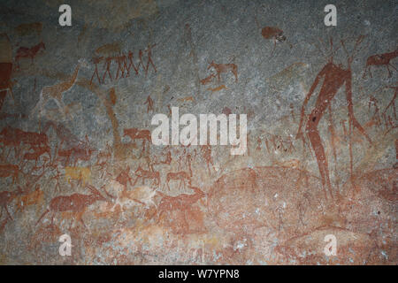
[[[51,214],[51,225],[54,224],[55,213],[72,212],[73,219],[80,221],[83,224],[83,226],[86,227],[86,225],[83,222],[82,216],[84,211],[88,208],[88,206],[98,201],[109,202],[108,199],[106,199],[103,195],[101,195],[101,193],[96,189],[96,187],[88,185],[87,188],[88,190],[91,191],[90,195],[83,195],[83,194],[59,195],[51,199],[47,210],[45,210],[42,213],[42,216],[39,218],[39,220],[37,220],[36,226],[39,224],[42,218],[49,212]],[[71,222],[71,226],[69,228],[72,228],[72,225],[73,221]]]

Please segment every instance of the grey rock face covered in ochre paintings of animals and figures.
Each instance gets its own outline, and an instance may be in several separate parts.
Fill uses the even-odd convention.
[[[0,4],[0,264],[398,264],[395,3],[343,2]]]

